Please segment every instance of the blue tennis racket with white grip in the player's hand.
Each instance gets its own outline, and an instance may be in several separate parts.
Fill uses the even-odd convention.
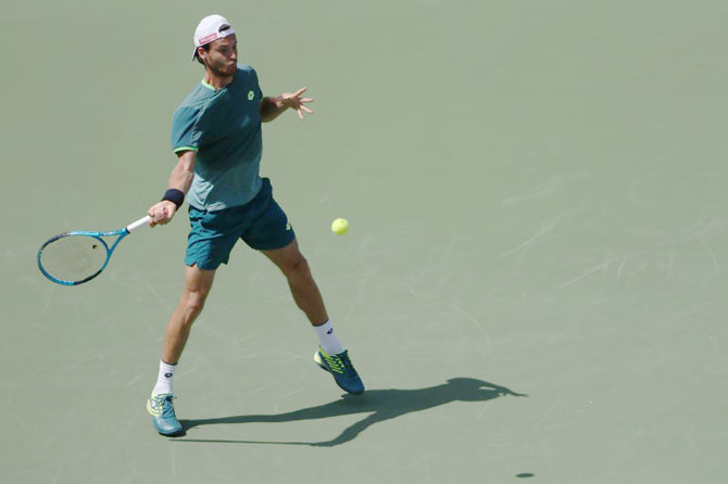
[[[43,276],[58,284],[83,284],[106,268],[111,254],[126,235],[148,225],[149,216],[146,216],[111,232],[75,230],[61,233],[41,245],[38,251],[38,268]]]

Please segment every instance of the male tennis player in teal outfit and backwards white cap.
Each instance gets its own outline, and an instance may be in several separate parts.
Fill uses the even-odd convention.
[[[261,123],[288,109],[303,119],[313,113],[301,98],[305,88],[264,98],[255,71],[239,64],[230,24],[210,15],[194,31],[194,53],[204,77],[183,101],[172,122],[172,149],[177,165],[163,200],[149,209],[150,225],[168,224],[187,195],[190,231],[185,256],[185,288],[166,327],[156,385],[148,400],[156,431],[181,432],[172,400],[172,382],[189,336],[210,293],[215,270],[227,264],[238,239],[265,254],[288,279],[293,300],[319,340],[315,362],[353,394],[364,392],[347,351],[326,314],[309,265],[299,252],[291,225],[272,196],[271,182],[259,175]]]

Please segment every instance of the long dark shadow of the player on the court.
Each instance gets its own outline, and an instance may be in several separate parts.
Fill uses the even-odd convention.
[[[359,422],[344,429],[336,438],[326,442],[265,442],[265,441],[214,441],[199,438],[181,438],[177,442],[210,442],[238,444],[288,444],[335,446],[344,444],[371,425],[391,420],[405,413],[427,410],[452,402],[487,402],[500,396],[528,396],[512,392],[505,386],[476,380],[473,378],[453,378],[447,383],[419,390],[368,390],[363,395],[344,395],[341,399],[278,415],[250,415],[223,417],[218,419],[180,420],[185,434],[190,429],[218,423],[260,423],[260,422],[294,422],[299,420],[325,419],[354,413],[368,413]]]

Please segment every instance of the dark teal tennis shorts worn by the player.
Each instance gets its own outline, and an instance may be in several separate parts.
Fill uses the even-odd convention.
[[[227,264],[242,239],[258,251],[281,249],[296,239],[284,211],[273,200],[271,180],[263,178],[258,195],[244,205],[208,212],[189,207],[190,231],[185,264],[213,270]]]

